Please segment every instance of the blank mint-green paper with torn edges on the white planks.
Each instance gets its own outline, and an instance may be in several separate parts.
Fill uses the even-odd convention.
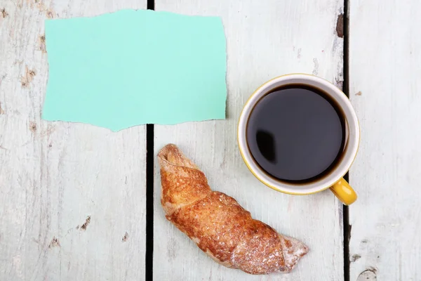
[[[118,131],[225,118],[220,18],[124,10],[46,20],[46,48],[43,119]]]

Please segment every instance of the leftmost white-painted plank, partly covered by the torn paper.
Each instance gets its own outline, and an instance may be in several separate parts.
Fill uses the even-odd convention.
[[[1,1],[0,280],[145,279],[145,126],[45,122],[44,19],[146,1]]]

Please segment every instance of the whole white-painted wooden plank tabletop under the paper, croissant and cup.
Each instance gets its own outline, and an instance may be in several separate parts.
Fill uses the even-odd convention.
[[[123,8],[147,0],[0,0],[0,280],[421,280],[421,1],[156,0],[156,11],[222,17],[227,119],[118,133],[41,120],[44,19]],[[290,72],[333,81],[356,108],[349,209],[330,192],[265,188],[241,160],[243,103]],[[170,142],[214,190],[309,245],[293,273],[224,268],[165,220],[147,147]]]

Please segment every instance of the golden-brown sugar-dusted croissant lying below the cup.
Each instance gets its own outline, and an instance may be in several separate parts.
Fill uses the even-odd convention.
[[[308,248],[250,216],[234,198],[210,190],[206,176],[177,146],[158,154],[166,218],[212,259],[250,274],[288,273]]]

